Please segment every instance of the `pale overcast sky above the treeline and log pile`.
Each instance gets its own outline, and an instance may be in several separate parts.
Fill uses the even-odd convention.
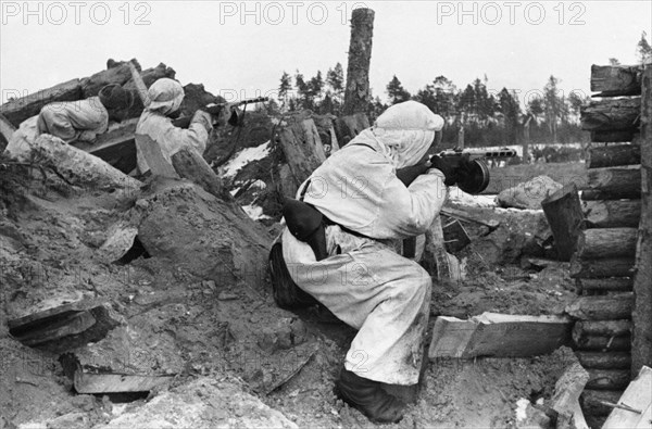
[[[227,100],[274,96],[283,72],[347,67],[349,18],[375,11],[369,79],[416,92],[443,75],[476,77],[522,102],[557,77],[589,94],[591,64],[637,62],[652,1],[0,1],[0,102],[136,58]]]

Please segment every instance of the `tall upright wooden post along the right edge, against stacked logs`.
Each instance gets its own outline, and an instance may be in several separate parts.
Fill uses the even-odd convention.
[[[631,371],[652,367],[652,65],[643,73],[641,110],[641,223],[637,244],[637,272],[634,276],[634,345]]]

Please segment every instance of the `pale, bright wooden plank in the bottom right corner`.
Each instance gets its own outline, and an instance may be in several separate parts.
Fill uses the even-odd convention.
[[[617,404],[638,409],[636,413],[623,408],[614,408],[602,426],[603,429],[630,429],[652,427],[650,407],[652,405],[652,369],[643,366],[618,400]]]

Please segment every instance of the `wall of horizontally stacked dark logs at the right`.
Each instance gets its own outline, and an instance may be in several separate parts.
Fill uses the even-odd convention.
[[[589,373],[584,413],[598,420],[611,412],[603,401],[617,403],[631,379],[635,258],[644,211],[640,164],[651,144],[640,138],[641,105],[649,103],[638,97],[641,75],[637,66],[593,66],[591,90],[601,99],[581,111],[582,129],[591,131],[593,143],[605,144],[592,148],[587,161],[585,223],[570,261],[570,277],[582,296],[566,312],[577,319],[573,342]]]

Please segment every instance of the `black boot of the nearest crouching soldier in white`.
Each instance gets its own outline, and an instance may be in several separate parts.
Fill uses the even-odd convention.
[[[397,422],[403,418],[405,404],[385,392],[378,381],[362,378],[342,368],[336,381],[338,395],[376,422]]]

